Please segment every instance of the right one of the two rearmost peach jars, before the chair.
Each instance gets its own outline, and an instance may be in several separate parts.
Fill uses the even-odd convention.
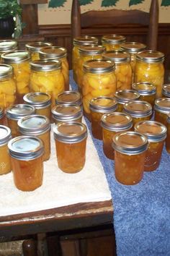
[[[125,40],[124,35],[103,35],[102,46],[105,46],[107,51],[117,51]]]

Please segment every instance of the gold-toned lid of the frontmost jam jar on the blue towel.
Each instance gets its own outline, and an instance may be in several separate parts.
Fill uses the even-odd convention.
[[[143,153],[148,148],[147,137],[138,132],[119,132],[112,141],[115,150],[128,155]]]

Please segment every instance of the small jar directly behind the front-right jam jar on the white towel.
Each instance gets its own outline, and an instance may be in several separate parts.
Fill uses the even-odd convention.
[[[75,104],[58,104],[52,108],[51,112],[55,124],[58,124],[58,122],[60,121],[81,122],[83,116],[83,111],[81,110],[81,107]]]

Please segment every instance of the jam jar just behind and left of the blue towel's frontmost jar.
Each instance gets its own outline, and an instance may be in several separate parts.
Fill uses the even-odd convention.
[[[117,132],[125,132],[133,127],[133,119],[128,114],[113,112],[104,114],[101,118],[103,152],[107,158],[114,160],[115,153],[112,148],[112,138]]]

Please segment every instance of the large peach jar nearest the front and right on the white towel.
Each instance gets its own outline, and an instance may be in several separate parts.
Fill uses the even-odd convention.
[[[55,99],[64,90],[64,78],[61,61],[37,60],[30,63],[30,90],[32,93],[48,93],[51,96],[51,108]]]

